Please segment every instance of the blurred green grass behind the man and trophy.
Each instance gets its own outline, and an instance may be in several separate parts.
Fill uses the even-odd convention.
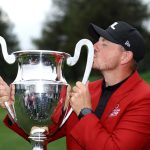
[[[150,84],[150,72],[143,73],[141,76]],[[90,81],[93,81],[95,78],[92,77]],[[7,112],[0,108],[0,150],[31,150],[31,145],[26,142],[22,137],[8,129],[3,125],[3,118]],[[48,144],[48,150],[65,150],[66,142],[65,138],[59,139],[52,143]]]

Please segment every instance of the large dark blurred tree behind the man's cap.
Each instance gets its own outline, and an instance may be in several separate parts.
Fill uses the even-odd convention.
[[[73,55],[75,44],[80,39],[90,39],[87,32],[90,22],[107,28],[117,20],[124,20],[137,27],[145,36],[146,47],[150,48],[150,33],[143,25],[150,13],[148,6],[141,0],[53,0],[53,3],[57,7],[54,19],[46,18],[41,37],[33,40],[39,49],[65,51]],[[86,62],[86,52],[83,51],[78,64],[67,69],[67,78],[77,80],[83,73]],[[146,60],[150,61],[150,53]],[[143,63],[142,68],[147,70],[148,66]]]

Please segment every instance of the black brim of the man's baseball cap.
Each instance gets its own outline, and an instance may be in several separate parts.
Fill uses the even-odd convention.
[[[89,35],[96,41],[98,41],[100,37],[103,37],[111,42],[116,42],[106,30],[96,26],[93,23],[90,23],[88,32]]]

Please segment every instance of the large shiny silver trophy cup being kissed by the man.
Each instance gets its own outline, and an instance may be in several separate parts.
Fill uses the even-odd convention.
[[[29,135],[33,150],[43,150],[47,135],[41,127],[59,123],[58,128],[61,128],[72,112],[72,109],[62,112],[68,85],[63,76],[63,64],[66,61],[69,66],[75,65],[82,46],[87,46],[87,64],[82,80],[85,84],[93,64],[93,44],[87,39],[80,40],[73,57],[49,50],[22,50],[9,55],[1,36],[0,44],[5,61],[9,64],[18,62],[18,73],[13,82],[15,101],[12,105],[5,102],[9,116]],[[49,135],[56,131],[57,128],[49,130]]]

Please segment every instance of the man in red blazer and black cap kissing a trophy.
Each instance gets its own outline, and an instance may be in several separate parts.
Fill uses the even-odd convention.
[[[90,24],[94,44],[93,68],[102,80],[77,82],[69,103],[74,112],[51,142],[66,136],[68,150],[150,149],[150,87],[139,76],[144,40],[136,28],[118,21],[106,30]],[[5,124],[27,139],[17,127]]]

